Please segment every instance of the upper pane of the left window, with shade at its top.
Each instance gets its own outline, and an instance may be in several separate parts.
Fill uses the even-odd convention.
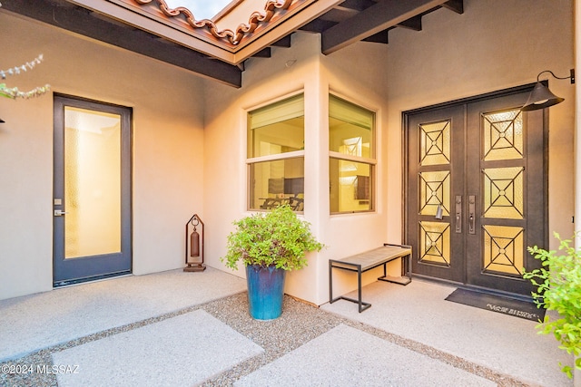
[[[248,157],[303,150],[304,98],[273,103],[248,114]]]

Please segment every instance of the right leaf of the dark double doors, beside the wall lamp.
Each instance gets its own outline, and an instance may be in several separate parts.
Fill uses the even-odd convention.
[[[531,285],[523,270],[538,266],[527,246],[545,246],[547,240],[544,112],[520,111],[527,95],[475,102],[467,109],[468,131],[480,139],[469,141],[467,150],[467,191],[476,198],[467,283],[524,295]]]

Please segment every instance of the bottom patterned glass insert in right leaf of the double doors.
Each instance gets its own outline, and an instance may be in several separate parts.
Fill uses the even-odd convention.
[[[483,229],[483,271],[522,276],[525,256],[524,228],[486,225]]]

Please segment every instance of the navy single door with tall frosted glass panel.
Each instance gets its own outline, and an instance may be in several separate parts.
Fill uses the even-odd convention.
[[[131,109],[54,97],[54,286],[131,271]]]

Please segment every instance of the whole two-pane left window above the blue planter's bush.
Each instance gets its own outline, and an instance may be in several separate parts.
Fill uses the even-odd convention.
[[[249,208],[304,208],[304,96],[248,113]]]

